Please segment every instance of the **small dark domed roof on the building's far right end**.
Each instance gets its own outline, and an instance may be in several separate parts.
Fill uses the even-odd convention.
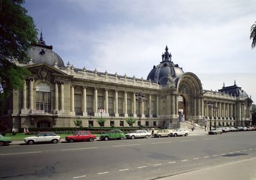
[[[236,85],[236,81],[234,83],[234,86],[227,86],[225,87],[225,84],[223,84],[222,89],[219,89],[219,92],[221,93],[227,93],[232,96],[241,97],[241,98],[248,98],[248,94],[241,89],[241,87],[238,87]]]

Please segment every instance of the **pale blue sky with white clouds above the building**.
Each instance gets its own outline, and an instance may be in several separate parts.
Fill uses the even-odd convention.
[[[65,66],[147,79],[172,61],[218,91],[236,84],[256,101],[256,0],[26,0],[44,41]],[[255,102],[254,102],[255,103]]]

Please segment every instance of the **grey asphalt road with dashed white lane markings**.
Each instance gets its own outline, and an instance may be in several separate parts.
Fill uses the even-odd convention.
[[[0,179],[168,179],[255,157],[255,135],[5,146],[0,148]]]

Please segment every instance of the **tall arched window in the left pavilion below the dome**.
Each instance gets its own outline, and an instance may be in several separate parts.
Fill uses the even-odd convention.
[[[51,112],[51,87],[45,82],[36,86],[36,110]]]

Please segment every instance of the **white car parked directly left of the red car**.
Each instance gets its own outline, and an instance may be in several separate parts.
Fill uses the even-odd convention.
[[[60,142],[60,139],[61,139],[60,136],[51,132],[46,132],[46,133],[38,133],[38,135],[36,136],[26,137],[24,139],[24,142],[26,142],[26,144],[29,144],[29,145],[39,143],[39,142],[52,142],[53,144],[56,144]]]

